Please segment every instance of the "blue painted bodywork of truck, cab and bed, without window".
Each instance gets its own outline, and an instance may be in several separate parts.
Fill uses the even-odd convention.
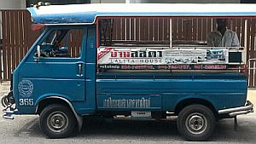
[[[79,58],[34,59],[38,43],[42,43],[50,30],[55,28],[83,28],[84,37]],[[78,77],[78,64],[83,76]],[[18,84],[28,79],[34,85],[34,106],[19,105],[22,95]],[[99,111],[171,111],[178,103],[189,99],[208,101],[216,111],[244,106],[247,100],[247,77],[242,73],[97,73],[95,26],[47,26],[32,45],[14,72],[14,96],[20,114],[31,114],[39,101],[49,96],[59,96],[70,101],[81,115]],[[113,100],[111,107],[104,101]],[[143,102],[150,106],[120,102]],[[110,105],[109,105],[110,106]],[[118,107],[117,107],[118,106]]]

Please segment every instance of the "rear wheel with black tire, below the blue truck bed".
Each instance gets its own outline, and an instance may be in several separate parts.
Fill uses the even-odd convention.
[[[188,141],[206,141],[215,124],[212,111],[202,105],[184,107],[177,117],[177,130]]]

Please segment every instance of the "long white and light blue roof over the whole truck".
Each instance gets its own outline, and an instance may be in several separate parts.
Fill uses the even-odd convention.
[[[256,4],[241,3],[97,3],[28,8],[34,24],[94,24],[97,17],[256,17]]]

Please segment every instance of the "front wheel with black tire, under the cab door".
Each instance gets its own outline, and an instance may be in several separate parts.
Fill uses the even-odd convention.
[[[39,124],[49,138],[64,138],[73,133],[77,121],[70,108],[53,104],[45,107],[41,112]]]

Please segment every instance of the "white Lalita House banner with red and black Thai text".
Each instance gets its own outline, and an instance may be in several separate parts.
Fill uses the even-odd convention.
[[[99,48],[98,64],[227,64],[226,49]]]

